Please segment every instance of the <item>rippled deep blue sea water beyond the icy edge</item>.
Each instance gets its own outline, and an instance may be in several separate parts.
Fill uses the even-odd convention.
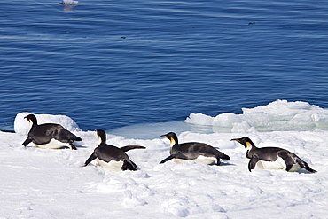
[[[59,2],[0,2],[0,129],[21,112],[93,130],[328,108],[326,1]]]

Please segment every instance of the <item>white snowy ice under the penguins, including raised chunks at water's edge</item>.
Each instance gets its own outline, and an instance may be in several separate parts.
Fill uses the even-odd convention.
[[[164,133],[144,129],[152,135],[148,139],[108,132],[107,144],[147,148],[128,152],[140,170],[125,172],[83,167],[98,138],[66,116],[36,115],[39,123],[60,122],[82,137],[78,150],[24,148],[28,122],[22,118],[26,113],[20,113],[14,122],[16,133],[0,132],[0,218],[327,218],[327,112],[308,103],[276,101],[244,109],[241,115],[191,114],[187,122],[218,132],[183,131],[177,133],[180,142],[219,147],[231,158],[219,167],[176,165],[172,160],[159,164],[169,153],[168,139],[160,135],[175,127],[167,126]],[[318,172],[250,173],[244,146],[230,141],[245,136],[259,147],[296,153]]]

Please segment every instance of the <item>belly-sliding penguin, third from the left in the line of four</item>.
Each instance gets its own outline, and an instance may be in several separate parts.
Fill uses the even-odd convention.
[[[170,155],[166,159],[161,160],[160,163],[173,159],[175,163],[185,163],[194,160],[196,163],[220,165],[220,159],[230,160],[228,155],[204,143],[190,142],[179,144],[174,132],[169,132],[161,137],[168,137],[171,148]]]

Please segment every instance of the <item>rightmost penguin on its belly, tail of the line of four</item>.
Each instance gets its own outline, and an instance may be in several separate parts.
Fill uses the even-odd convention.
[[[237,141],[247,149],[246,158],[249,160],[248,170],[250,172],[254,168],[285,169],[288,172],[305,168],[311,173],[316,172],[313,168],[308,167],[307,162],[285,149],[279,147],[258,148],[248,137],[235,138],[231,141]]]

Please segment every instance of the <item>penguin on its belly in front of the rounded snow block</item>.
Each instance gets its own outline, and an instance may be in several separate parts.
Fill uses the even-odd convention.
[[[27,139],[22,144],[24,146],[32,142],[40,148],[58,149],[67,146],[76,150],[73,142],[82,140],[81,137],[75,136],[59,124],[45,123],[38,125],[34,114],[29,114],[24,119],[27,119],[31,126]]]

